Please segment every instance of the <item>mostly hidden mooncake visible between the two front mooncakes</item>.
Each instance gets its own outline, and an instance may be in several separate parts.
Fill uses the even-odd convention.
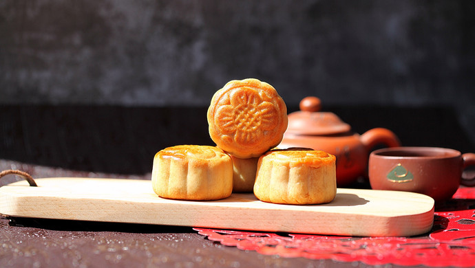
[[[233,192],[253,192],[259,157],[233,159]]]

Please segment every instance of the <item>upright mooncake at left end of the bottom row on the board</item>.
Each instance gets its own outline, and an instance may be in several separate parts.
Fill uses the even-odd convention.
[[[233,190],[233,161],[214,146],[168,147],[154,157],[151,183],[167,199],[223,199]]]

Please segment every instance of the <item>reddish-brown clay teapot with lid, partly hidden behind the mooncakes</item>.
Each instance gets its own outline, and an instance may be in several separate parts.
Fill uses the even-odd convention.
[[[337,157],[337,186],[347,186],[366,175],[370,150],[375,146],[401,146],[392,131],[370,129],[359,135],[335,113],[320,112],[317,97],[306,97],[300,110],[288,115],[288,128],[278,148],[306,147],[324,150]]]

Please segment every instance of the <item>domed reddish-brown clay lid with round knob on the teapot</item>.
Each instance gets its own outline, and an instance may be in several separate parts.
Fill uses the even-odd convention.
[[[300,102],[300,111],[288,115],[288,133],[296,135],[332,135],[345,133],[351,126],[330,112],[320,112],[317,97],[306,97]]]

